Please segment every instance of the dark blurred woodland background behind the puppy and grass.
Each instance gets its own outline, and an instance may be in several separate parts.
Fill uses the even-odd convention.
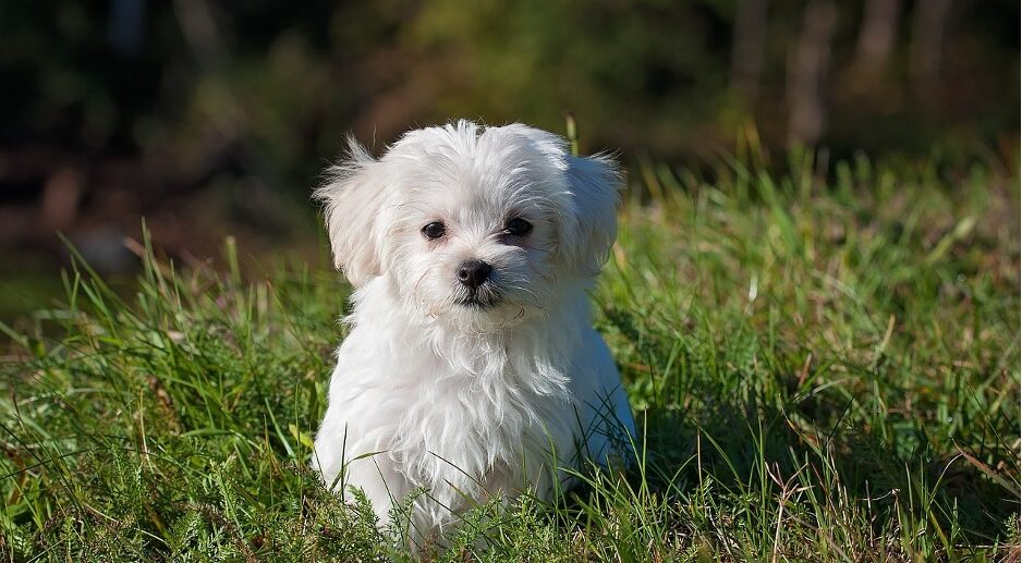
[[[45,4],[45,7],[44,7]],[[583,150],[1018,169],[1018,0],[12,0],[0,3],[0,319],[154,243],[323,256],[308,196],[353,132],[524,121]]]

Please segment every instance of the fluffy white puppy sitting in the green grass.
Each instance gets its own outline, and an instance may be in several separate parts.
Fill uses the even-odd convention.
[[[476,502],[546,498],[563,468],[634,435],[586,289],[616,235],[605,157],[521,124],[412,131],[379,160],[354,140],[316,196],[356,287],[313,466],[417,537]]]

